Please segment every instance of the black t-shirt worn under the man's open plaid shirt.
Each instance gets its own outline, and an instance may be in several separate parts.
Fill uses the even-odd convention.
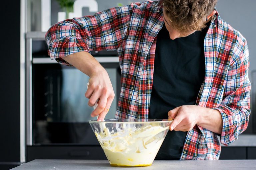
[[[156,42],[149,118],[168,119],[168,112],[195,105],[205,76],[204,38],[209,28],[171,40],[165,25]],[[187,132],[168,131],[156,159],[179,159]]]

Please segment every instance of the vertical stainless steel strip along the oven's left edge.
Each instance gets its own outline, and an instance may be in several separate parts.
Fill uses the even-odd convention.
[[[26,39],[26,129],[27,145],[32,145],[32,38]]]

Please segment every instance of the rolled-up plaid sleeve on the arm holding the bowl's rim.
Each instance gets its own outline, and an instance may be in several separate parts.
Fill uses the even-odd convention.
[[[251,113],[248,69],[249,51],[244,40],[241,52],[229,67],[223,101],[215,108],[223,120],[220,141],[224,145],[231,144],[248,126]]]

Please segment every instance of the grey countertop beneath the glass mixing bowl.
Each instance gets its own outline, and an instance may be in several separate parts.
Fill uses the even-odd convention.
[[[103,170],[103,169],[256,169],[256,160],[155,160],[147,167],[112,167],[107,160],[52,160],[36,159],[12,170]]]

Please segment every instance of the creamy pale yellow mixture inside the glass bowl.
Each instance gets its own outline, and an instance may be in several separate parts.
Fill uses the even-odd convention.
[[[104,130],[103,130],[104,129]],[[164,140],[164,130],[160,126],[128,128],[110,132],[103,125],[100,133],[95,132],[109,162],[114,166],[151,165]]]

